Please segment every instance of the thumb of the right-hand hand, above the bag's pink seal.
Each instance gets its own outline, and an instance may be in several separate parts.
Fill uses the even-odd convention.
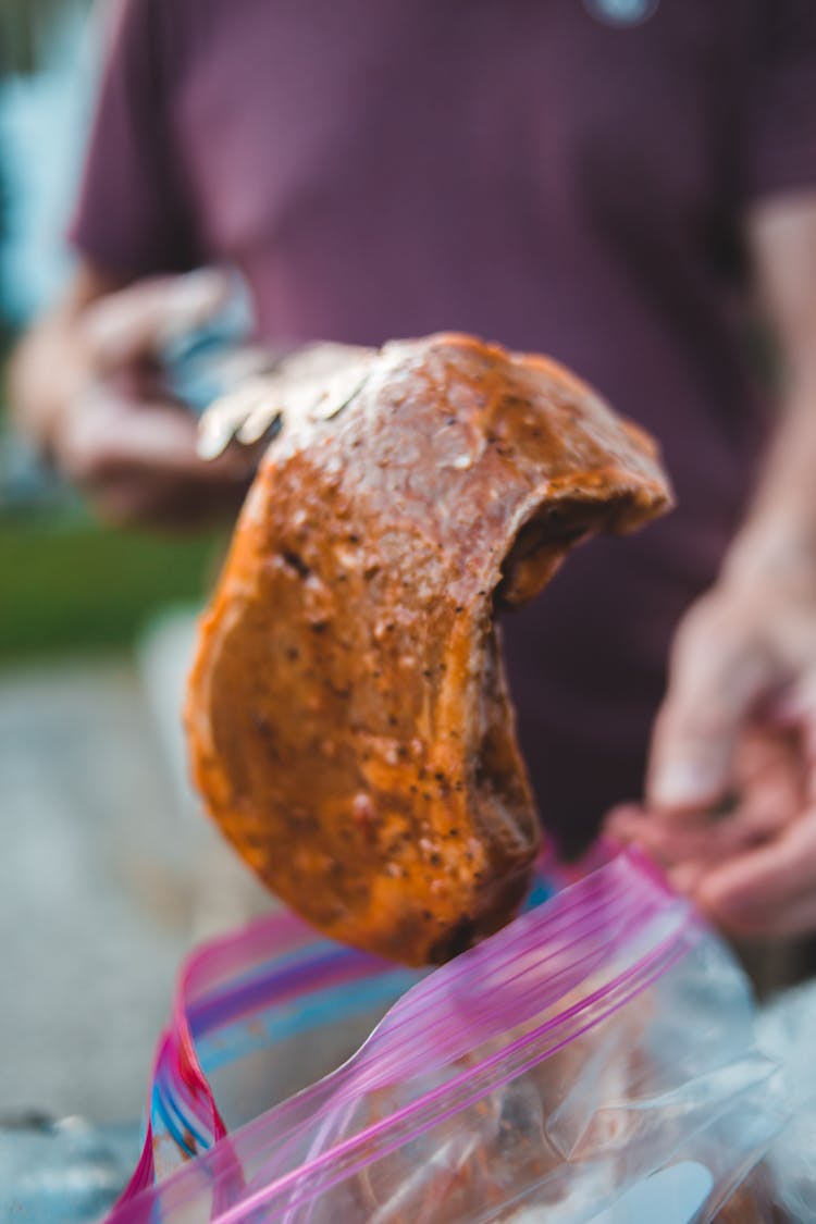
[[[650,807],[694,812],[727,796],[740,732],[773,678],[771,656],[736,603],[710,595],[691,608],[652,734]]]

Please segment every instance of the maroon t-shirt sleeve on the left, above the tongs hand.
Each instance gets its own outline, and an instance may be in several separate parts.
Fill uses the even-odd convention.
[[[172,148],[160,10],[154,0],[117,0],[105,16],[103,73],[69,237],[106,272],[181,272],[198,261]]]

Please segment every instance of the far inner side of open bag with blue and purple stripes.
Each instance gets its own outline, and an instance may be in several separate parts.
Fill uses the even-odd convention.
[[[159,1042],[127,1193],[345,1062],[418,977],[283,912],[195,951]]]

